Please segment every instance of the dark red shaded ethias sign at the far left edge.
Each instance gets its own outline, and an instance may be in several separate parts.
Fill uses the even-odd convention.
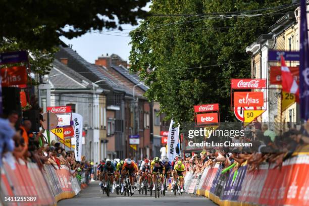
[[[2,86],[23,85],[27,83],[27,71],[25,66],[7,67],[0,70]]]

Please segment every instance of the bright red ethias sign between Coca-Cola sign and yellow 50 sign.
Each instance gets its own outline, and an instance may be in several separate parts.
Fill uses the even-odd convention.
[[[234,107],[263,107],[264,93],[254,92],[234,92]]]

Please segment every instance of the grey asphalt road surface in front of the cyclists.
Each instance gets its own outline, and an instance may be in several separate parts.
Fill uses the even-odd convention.
[[[100,187],[98,182],[91,182],[90,185],[82,190],[80,194],[72,199],[64,199],[58,202],[60,206],[68,205],[109,205],[109,206],[140,206],[140,205],[194,205],[194,206],[207,206],[207,205],[217,205],[212,200],[206,197],[199,197],[192,194],[182,194],[174,196],[173,193],[168,192],[165,196],[160,196],[160,198],[152,197],[148,194],[147,196],[139,194],[135,191],[133,196],[124,196],[111,194],[107,197],[106,194],[100,192]]]

